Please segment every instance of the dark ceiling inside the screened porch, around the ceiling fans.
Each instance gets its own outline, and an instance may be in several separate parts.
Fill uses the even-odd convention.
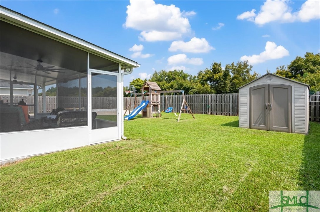
[[[34,83],[36,77],[37,85],[42,85],[43,82],[50,85],[56,83],[57,79],[74,79],[79,77],[79,73],[87,72],[86,51],[4,21],[1,21],[0,31],[1,81],[10,81],[11,72],[11,80],[16,76],[17,81]],[[39,64],[37,60],[42,60],[41,65],[44,67],[54,66],[54,69],[63,69],[59,71],[64,73],[46,73],[30,69]],[[106,67],[110,67],[110,71],[114,71],[115,67],[118,69],[117,63],[107,59],[95,64],[92,68],[104,67],[108,70]]]

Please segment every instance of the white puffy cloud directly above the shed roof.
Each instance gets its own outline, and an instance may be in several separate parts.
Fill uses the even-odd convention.
[[[259,55],[252,56],[242,56],[241,61],[248,60],[252,65],[263,63],[266,60],[279,59],[285,56],[289,56],[289,51],[283,46],[277,46],[275,42],[268,41],[266,43],[265,51],[261,52]]]

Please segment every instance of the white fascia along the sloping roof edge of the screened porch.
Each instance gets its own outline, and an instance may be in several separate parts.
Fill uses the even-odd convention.
[[[76,45],[76,46],[81,47],[83,49],[93,51],[93,52],[98,53],[100,55],[102,54],[103,56],[108,57],[110,59],[112,58],[112,59],[116,60],[117,62],[128,64],[132,68],[133,67],[140,67],[140,64],[138,64],[137,62],[135,62],[129,58],[118,55],[112,51],[104,49],[104,48],[97,46],[93,43],[87,42],[81,38],[78,38],[74,35],[63,32],[59,29],[56,29],[52,26],[49,26],[49,25],[44,24],[40,21],[32,19],[32,18],[25,16],[19,12],[10,10],[9,8],[6,8],[1,5],[0,5],[0,15],[2,18],[6,19],[6,20],[18,23],[21,26],[26,26],[29,29],[36,30],[37,32],[41,32],[46,35],[52,36],[55,39],[59,38],[62,41],[68,42],[69,44],[72,44],[72,45]]]

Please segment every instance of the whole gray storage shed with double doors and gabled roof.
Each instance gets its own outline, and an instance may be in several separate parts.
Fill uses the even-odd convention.
[[[307,84],[267,73],[239,87],[239,127],[307,134]]]

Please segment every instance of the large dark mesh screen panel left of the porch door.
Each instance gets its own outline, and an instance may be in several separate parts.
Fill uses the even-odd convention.
[[[3,20],[0,33],[0,133],[88,125],[88,53]]]

